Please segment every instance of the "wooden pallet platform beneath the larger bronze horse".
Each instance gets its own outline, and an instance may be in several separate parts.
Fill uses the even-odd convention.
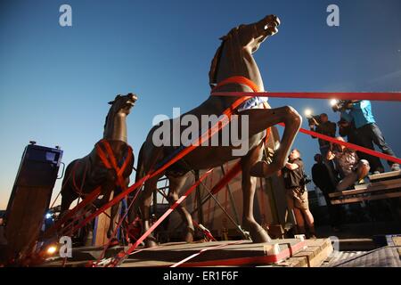
[[[99,256],[101,248],[75,248],[66,266],[84,266]],[[122,248],[106,256],[115,256]],[[112,249],[111,249],[112,250]],[[201,254],[199,254],[201,252]],[[156,248],[138,248],[121,267],[168,267],[189,256],[179,267],[201,266],[319,266],[332,252],[329,239],[273,240],[252,243],[250,240],[225,240],[202,243],[174,242]],[[92,257],[91,257],[92,256]],[[85,260],[86,259],[86,260]],[[44,266],[61,266],[61,259]]]

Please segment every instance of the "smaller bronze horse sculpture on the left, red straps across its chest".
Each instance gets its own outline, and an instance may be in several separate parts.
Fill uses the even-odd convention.
[[[115,194],[121,191],[121,184],[128,185],[134,156],[127,142],[127,116],[136,100],[135,94],[127,94],[117,95],[114,101],[109,102],[111,106],[105,119],[102,140],[95,144],[94,150],[86,157],[71,161],[66,168],[61,189],[61,216],[69,210],[75,199],[85,198],[99,186],[99,197],[102,196],[102,199],[95,200],[94,206],[97,208],[109,201],[112,191]],[[112,167],[113,159],[117,167],[121,167],[120,174],[116,171],[117,167]],[[109,238],[118,209],[119,204],[116,204],[110,210],[110,226],[107,232]]]

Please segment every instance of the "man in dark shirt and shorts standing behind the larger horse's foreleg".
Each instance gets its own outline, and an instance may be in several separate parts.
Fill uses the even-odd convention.
[[[289,211],[294,212],[299,234],[305,234],[305,221],[309,228],[309,238],[315,239],[314,216],[309,210],[307,200],[306,175],[304,163],[300,159],[300,153],[294,149],[291,151],[289,161],[282,168],[282,176],[285,186],[285,197]]]

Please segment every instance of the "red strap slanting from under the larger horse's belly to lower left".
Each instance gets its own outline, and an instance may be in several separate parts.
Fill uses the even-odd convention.
[[[119,253],[118,256],[115,257],[115,259],[111,262],[110,266],[114,267],[116,265],[119,265],[119,262],[122,261],[122,259],[126,256],[128,256],[131,252],[133,252],[135,250],[135,248],[137,248],[142,242],[143,240],[145,240],[150,234],[151,232],[154,231],[154,229],[156,229],[156,227],[158,227],[158,225],[164,221],[164,219],[166,219],[166,217],[168,217],[168,215],[170,215],[170,213],[177,208],[183,201],[184,199],[186,199],[186,197],[188,197],[188,195],[190,195],[192,193],[192,191],[194,191],[196,189],[196,187],[198,187],[198,185],[208,176],[212,173],[213,168],[209,169],[207,172],[205,172],[203,175],[201,175],[201,177],[199,178],[198,181],[196,181],[191,187],[190,189],[188,189],[183,196],[180,197],[180,199],[177,199],[176,202],[171,205],[170,208],[168,208],[168,210],[166,211],[166,213],[163,214],[163,216],[160,216],[160,218],[156,221],[156,223],[151,225],[151,228],[146,231],[145,233],[143,233],[142,237],[140,237],[138,240],[135,241],[135,243],[127,249],[127,251],[122,251]]]

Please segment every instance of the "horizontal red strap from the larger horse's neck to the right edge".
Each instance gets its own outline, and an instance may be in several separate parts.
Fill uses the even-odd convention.
[[[401,101],[401,92],[213,92],[214,96]]]

